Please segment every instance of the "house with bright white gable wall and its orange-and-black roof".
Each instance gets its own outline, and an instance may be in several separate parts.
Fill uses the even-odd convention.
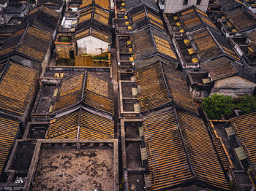
[[[112,31],[110,12],[98,7],[81,9],[75,41],[78,55],[99,55],[110,50]]]

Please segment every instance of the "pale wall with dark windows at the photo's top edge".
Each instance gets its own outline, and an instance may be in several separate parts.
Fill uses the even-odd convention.
[[[187,5],[183,4],[183,0],[165,0],[165,13],[175,13],[195,5],[198,9],[206,12],[209,0],[201,0],[200,5],[197,5],[197,0],[188,0]]]

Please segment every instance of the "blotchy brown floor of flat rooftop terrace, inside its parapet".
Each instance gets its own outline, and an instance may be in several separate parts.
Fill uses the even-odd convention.
[[[112,190],[113,149],[42,150],[32,190]]]

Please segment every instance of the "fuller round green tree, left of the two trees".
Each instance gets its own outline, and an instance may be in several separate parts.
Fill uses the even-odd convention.
[[[229,117],[233,113],[234,104],[229,95],[214,93],[203,99],[203,110],[211,120],[220,120],[222,117]]]

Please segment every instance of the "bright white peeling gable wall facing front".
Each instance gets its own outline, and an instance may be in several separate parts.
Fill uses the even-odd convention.
[[[97,39],[94,36],[86,36],[77,41],[78,55],[99,55],[108,51],[108,45],[108,42]]]

